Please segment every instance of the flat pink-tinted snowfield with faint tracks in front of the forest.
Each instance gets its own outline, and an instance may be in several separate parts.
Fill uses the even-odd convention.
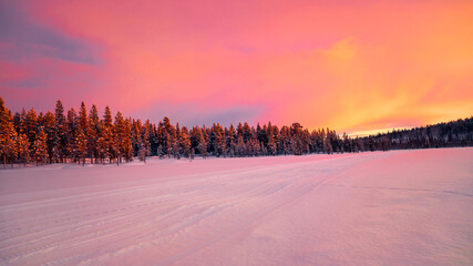
[[[1,265],[473,265],[473,149],[0,171]]]

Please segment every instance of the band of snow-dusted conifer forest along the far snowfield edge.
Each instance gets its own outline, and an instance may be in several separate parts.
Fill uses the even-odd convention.
[[[24,109],[16,114],[0,98],[0,157],[8,164],[124,163],[147,156],[193,158],[194,156],[244,157],[304,155],[429,149],[473,145],[473,116],[411,130],[392,131],[364,137],[339,136],[329,129],[309,132],[299,123],[278,127],[270,122],[224,127],[214,123],[192,129],[172,124],[168,117],[157,124],[115,115],[109,106],[100,113],[82,102],[79,111],[65,111],[58,101],[54,112]]]

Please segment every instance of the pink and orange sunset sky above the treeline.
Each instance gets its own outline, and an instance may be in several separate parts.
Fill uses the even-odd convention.
[[[13,112],[351,134],[473,115],[473,1],[0,1]]]

